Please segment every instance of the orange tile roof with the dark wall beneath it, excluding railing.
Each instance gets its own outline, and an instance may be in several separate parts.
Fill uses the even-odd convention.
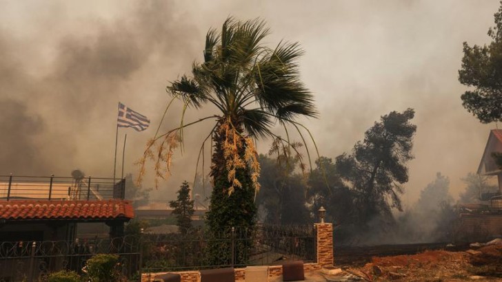
[[[40,200],[0,201],[0,241],[73,241],[77,225],[103,222],[110,237],[123,235],[123,224],[134,217],[129,201]]]

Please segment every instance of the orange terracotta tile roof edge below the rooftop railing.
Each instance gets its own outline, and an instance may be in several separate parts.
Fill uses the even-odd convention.
[[[123,199],[92,201],[0,201],[0,219],[131,219],[134,210]]]

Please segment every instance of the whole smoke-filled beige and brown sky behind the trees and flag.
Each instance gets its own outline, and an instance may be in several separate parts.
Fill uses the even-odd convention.
[[[265,19],[271,46],[301,43],[303,81],[320,111],[319,120],[303,123],[321,155],[350,151],[381,115],[412,107],[416,159],[403,199],[417,199],[437,171],[450,177],[456,196],[495,127],[461,106],[462,42],[487,43],[498,7],[456,0],[1,1],[0,175],[69,176],[78,168],[110,177],[119,101],[152,120],[147,131],[119,131],[117,171],[128,133],[125,173],[136,174],[133,163],[168,102],[165,86],[202,60],[205,33],[232,15]],[[208,113],[192,111],[185,122]],[[166,118],[163,129],[178,126],[180,105]],[[152,198],[171,199],[182,180],[192,180],[209,129],[185,131],[185,152],[177,151],[172,178]]]

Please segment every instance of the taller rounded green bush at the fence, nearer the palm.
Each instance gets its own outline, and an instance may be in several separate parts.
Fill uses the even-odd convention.
[[[86,261],[83,271],[92,282],[120,281],[118,265],[119,256],[116,254],[97,254]]]

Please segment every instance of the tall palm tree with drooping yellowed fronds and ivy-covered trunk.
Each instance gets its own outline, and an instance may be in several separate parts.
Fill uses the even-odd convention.
[[[192,76],[181,76],[167,87],[172,100],[165,111],[173,100],[184,103],[181,125],[162,135],[158,135],[157,130],[140,161],[140,179],[148,157],[156,160],[157,176],[164,177],[162,171],[168,173],[173,150],[183,140],[183,129],[213,120],[214,127],[203,140],[199,158],[201,153],[203,158],[205,142],[212,138],[210,176],[214,189],[207,219],[214,230],[221,226],[254,225],[254,197],[259,190],[259,163],[254,141],[271,137],[283,148],[296,151],[294,142],[275,135],[271,128],[276,122],[284,127],[291,124],[304,143],[301,131],[308,132],[308,129],[295,119],[317,116],[314,97],[299,79],[297,59],[303,50],[298,43],[282,41],[274,49],[265,47],[262,43],[268,34],[265,22],[259,19],[237,21],[228,18],[221,32],[210,29],[205,36],[204,62],[193,64]],[[183,122],[186,109],[200,109],[206,104],[216,107],[217,113],[194,122]],[[153,152],[156,142],[159,149]]]

